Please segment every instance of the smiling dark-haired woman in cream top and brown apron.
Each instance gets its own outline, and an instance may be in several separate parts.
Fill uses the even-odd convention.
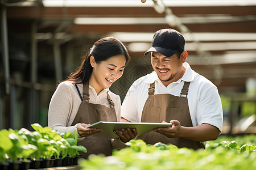
[[[121,101],[109,87],[123,74],[130,61],[129,53],[121,41],[105,37],[96,41],[86,54],[79,69],[61,82],[49,104],[48,125],[60,133],[74,133],[81,138],[77,145],[87,148],[82,158],[90,154],[112,155],[112,150],[125,147],[124,142],[137,135],[136,130],[123,129],[120,138],[93,137],[102,129],[86,129],[98,121],[120,121]]]

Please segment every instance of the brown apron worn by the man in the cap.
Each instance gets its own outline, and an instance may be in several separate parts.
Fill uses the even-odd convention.
[[[148,88],[148,98],[142,111],[141,122],[170,122],[177,120],[181,126],[192,126],[192,121],[188,108],[188,87],[190,82],[184,82],[180,97],[170,94],[154,95],[155,83],[150,84]],[[185,97],[181,96],[185,95]],[[144,142],[154,145],[156,142],[170,143],[177,147],[188,147],[197,150],[204,148],[201,142],[191,141],[184,138],[168,138],[165,135],[150,131],[138,137]]]

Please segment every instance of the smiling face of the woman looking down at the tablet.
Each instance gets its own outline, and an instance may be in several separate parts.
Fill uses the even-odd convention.
[[[91,56],[90,63],[93,67],[93,71],[89,79],[89,84],[98,94],[104,90],[104,88],[109,88],[115,80],[122,76],[126,59],[123,54],[119,54],[105,61],[101,61],[100,63],[96,63],[94,57]]]

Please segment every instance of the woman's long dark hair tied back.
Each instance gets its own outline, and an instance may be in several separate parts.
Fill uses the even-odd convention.
[[[129,53],[122,44],[121,41],[115,39],[114,37],[105,37],[96,41],[89,52],[84,56],[81,65],[77,68],[73,74],[69,75],[66,80],[73,83],[85,83],[89,81],[90,75],[92,75],[93,67],[90,65],[90,57],[93,56],[96,63],[105,61],[110,57],[123,54],[125,56],[127,65],[131,58]]]

